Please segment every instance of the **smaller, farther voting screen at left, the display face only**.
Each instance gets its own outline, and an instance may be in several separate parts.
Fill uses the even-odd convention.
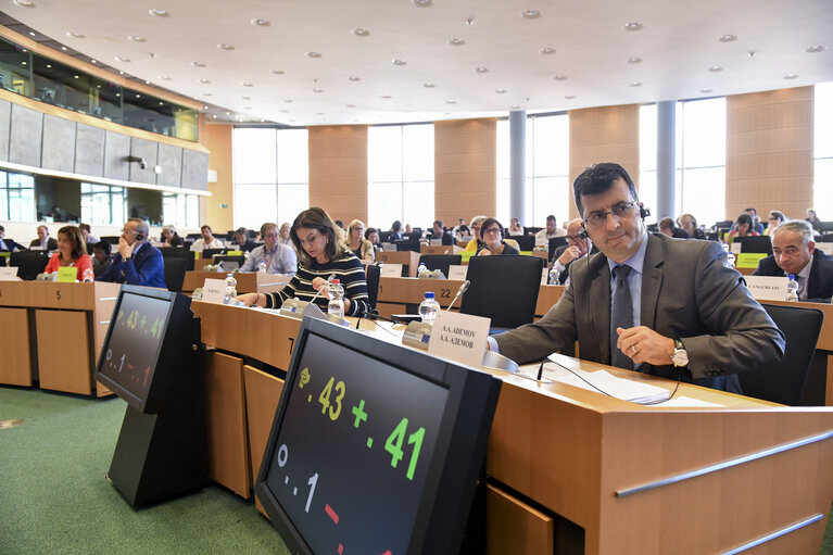
[[[167,292],[164,292],[167,294]],[[101,380],[142,409],[159,361],[172,303],[168,299],[123,290],[101,350]]]

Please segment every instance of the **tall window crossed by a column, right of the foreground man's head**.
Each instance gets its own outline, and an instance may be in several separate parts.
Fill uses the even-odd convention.
[[[677,103],[674,215],[694,214],[710,225],[725,212],[725,99]],[[657,106],[640,109],[640,199],[657,202]]]

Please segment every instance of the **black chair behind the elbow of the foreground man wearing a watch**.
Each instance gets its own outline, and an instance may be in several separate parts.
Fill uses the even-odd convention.
[[[743,394],[797,406],[816,354],[824,314],[818,308],[763,304],[767,314],[786,338],[784,360],[737,375]]]

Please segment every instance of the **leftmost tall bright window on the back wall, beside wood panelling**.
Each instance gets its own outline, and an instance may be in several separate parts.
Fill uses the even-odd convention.
[[[306,129],[238,127],[232,152],[235,227],[292,222],[310,205]]]

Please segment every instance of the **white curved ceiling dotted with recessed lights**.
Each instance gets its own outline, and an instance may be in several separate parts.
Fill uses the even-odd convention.
[[[831,0],[7,4],[34,33],[229,121],[437,121],[833,80]]]

